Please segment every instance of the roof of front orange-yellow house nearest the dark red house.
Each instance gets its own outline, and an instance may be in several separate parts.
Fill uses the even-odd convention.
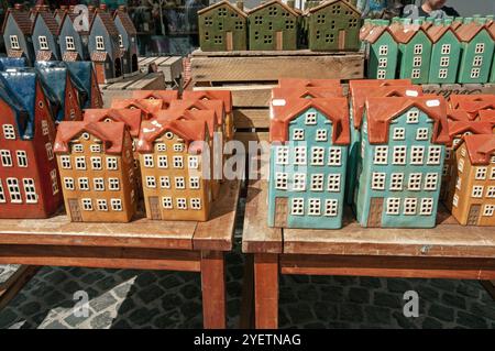
[[[125,123],[114,122],[66,122],[63,121],[58,124],[57,136],[55,138],[55,144],[53,151],[55,153],[69,152],[68,143],[75,136],[82,132],[88,132],[95,135],[103,143],[105,152],[108,154],[122,153],[122,146],[124,142]]]

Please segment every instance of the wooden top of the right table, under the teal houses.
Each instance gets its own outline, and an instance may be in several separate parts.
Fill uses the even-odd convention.
[[[362,228],[349,213],[340,230],[267,227],[267,182],[248,190],[246,253],[495,259],[495,227],[463,227],[441,207],[433,229]]]

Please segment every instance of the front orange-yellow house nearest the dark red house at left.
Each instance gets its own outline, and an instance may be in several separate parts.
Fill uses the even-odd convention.
[[[54,146],[73,222],[129,222],[135,213],[131,136],[122,122],[62,122]]]

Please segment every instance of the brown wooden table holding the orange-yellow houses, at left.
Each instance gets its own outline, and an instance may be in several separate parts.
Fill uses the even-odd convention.
[[[130,223],[76,223],[65,215],[0,220],[0,264],[199,272],[204,326],[226,328],[224,253],[232,249],[239,190],[239,182],[224,183],[207,222],[139,218]],[[0,299],[12,297],[1,286],[0,293]]]

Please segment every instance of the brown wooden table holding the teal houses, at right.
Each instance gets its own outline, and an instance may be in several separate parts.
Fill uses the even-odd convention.
[[[268,228],[266,189],[248,189],[242,240],[254,256],[256,328],[278,327],[278,274],[495,278],[495,228],[461,227],[443,210],[429,230],[365,229],[351,216],[341,230]]]

